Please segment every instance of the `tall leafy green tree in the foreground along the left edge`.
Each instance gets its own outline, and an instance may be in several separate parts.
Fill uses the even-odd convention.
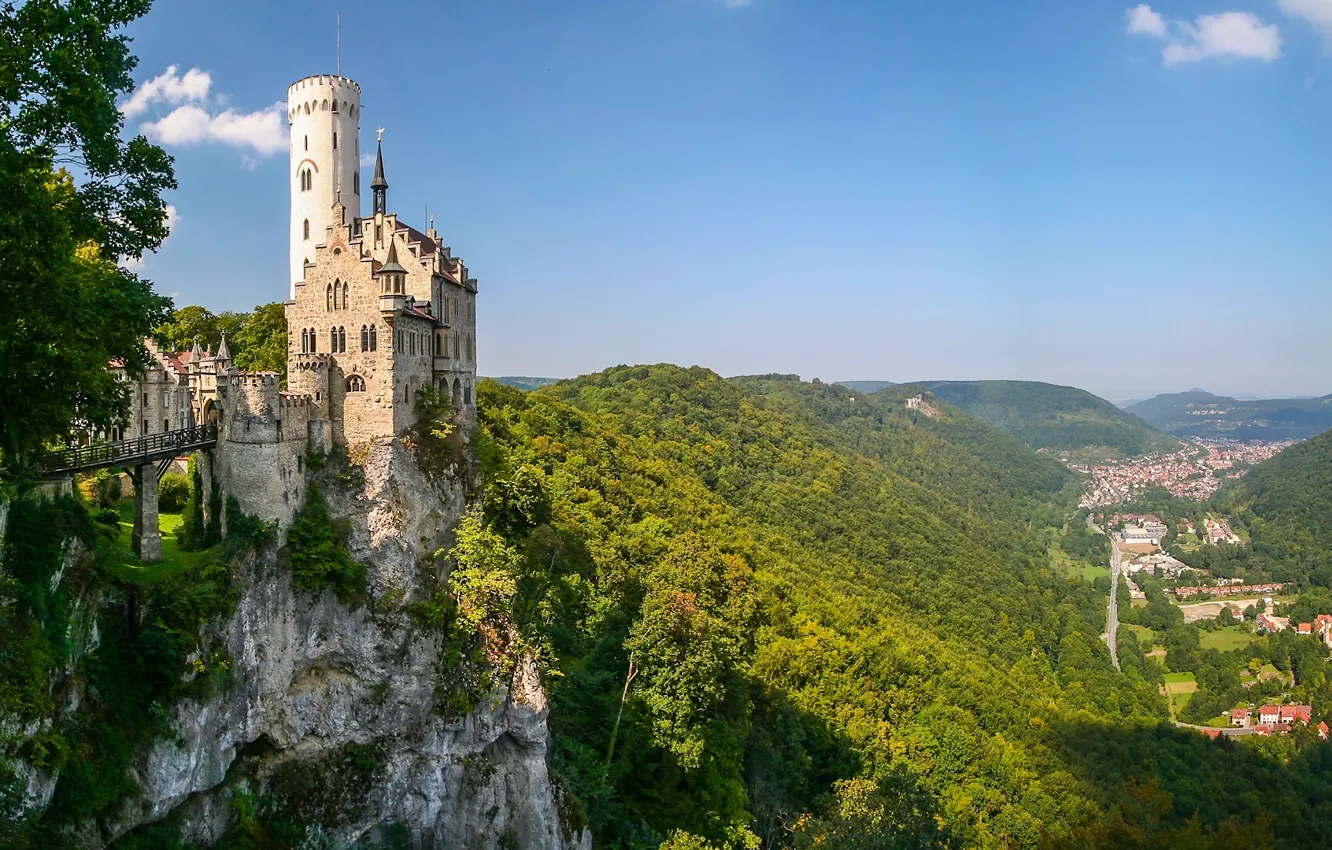
[[[147,362],[168,301],[116,265],[166,236],[170,157],[124,141],[131,89],[117,31],[147,0],[31,0],[0,8],[0,474],[24,480],[73,422],[109,428],[128,404],[107,364]],[[69,167],[77,180],[65,172]]]

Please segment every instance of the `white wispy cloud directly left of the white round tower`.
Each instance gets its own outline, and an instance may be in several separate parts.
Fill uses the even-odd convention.
[[[178,67],[172,65],[140,84],[120,104],[120,112],[125,117],[137,117],[159,104],[174,107],[156,121],[140,127],[145,136],[168,147],[217,143],[245,151],[246,163],[286,148],[281,103],[254,112],[237,112],[222,108],[225,99],[212,96],[212,75],[206,71],[190,68],[181,75]]]

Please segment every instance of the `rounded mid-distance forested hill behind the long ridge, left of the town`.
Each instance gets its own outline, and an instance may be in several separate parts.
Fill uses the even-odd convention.
[[[1104,398],[1039,381],[919,381],[912,386],[962,408],[1034,449],[1103,446],[1132,457],[1175,441]]]

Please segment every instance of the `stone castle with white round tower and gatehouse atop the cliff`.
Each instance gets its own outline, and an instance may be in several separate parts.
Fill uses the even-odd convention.
[[[136,378],[131,412],[112,440],[216,425],[217,445],[200,454],[213,481],[240,508],[280,529],[304,500],[304,460],[313,450],[354,448],[401,434],[416,420],[422,389],[476,410],[477,281],[434,230],[389,212],[389,181],[377,140],[372,208],[361,209],[361,87],[312,76],[288,88],[290,125],[290,298],[286,388],[276,373],[236,369],[222,338],[164,352]],[[129,380],[123,364],[112,364]],[[141,476],[145,477],[147,476]],[[136,501],[156,501],[152,489]],[[206,501],[206,500],[205,500]],[[136,548],[160,557],[156,506]],[[140,528],[140,525],[143,528]],[[151,526],[151,528],[149,528]]]

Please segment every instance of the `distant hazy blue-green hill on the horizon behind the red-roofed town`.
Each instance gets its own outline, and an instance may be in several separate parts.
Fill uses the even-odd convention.
[[[1332,396],[1241,401],[1191,390],[1156,396],[1126,409],[1180,437],[1303,440],[1332,428]]]

